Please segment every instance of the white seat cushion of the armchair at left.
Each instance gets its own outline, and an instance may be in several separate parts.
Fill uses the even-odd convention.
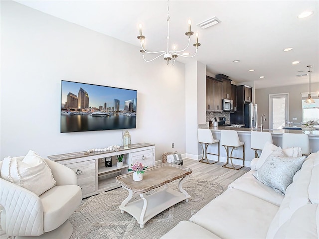
[[[43,229],[50,232],[61,226],[81,204],[81,188],[77,185],[55,186],[41,194]]]

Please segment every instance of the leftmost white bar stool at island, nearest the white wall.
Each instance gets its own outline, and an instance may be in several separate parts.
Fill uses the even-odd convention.
[[[208,164],[214,164],[219,162],[219,139],[214,139],[212,132],[210,129],[206,128],[198,128],[198,142],[200,143],[200,146],[203,150],[203,156],[199,160],[201,163],[208,163]],[[207,147],[210,144],[218,143],[218,154],[215,153],[207,153]],[[203,144],[205,144],[205,158],[204,158],[204,147]],[[209,162],[207,158],[207,154],[212,154],[212,155],[217,155],[218,156],[218,161],[213,161],[212,163]],[[207,160],[207,162],[203,162],[203,160]]]

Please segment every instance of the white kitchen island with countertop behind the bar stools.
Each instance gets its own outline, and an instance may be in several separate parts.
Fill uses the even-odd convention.
[[[245,166],[249,167],[251,160],[255,157],[255,151],[251,149],[251,128],[236,128],[236,127],[225,127],[225,126],[210,126],[208,127],[207,124],[199,124],[199,128],[209,128],[215,139],[220,140],[220,130],[236,130],[239,136],[239,140],[245,142]],[[256,131],[256,130],[254,130]],[[260,129],[258,129],[260,131]],[[264,132],[270,132],[272,134],[273,143],[277,146],[282,146],[282,136],[283,133],[305,133],[308,134],[310,147],[312,152],[317,152],[319,150],[319,130],[314,130],[312,133],[309,131],[303,132],[302,130],[298,129],[264,129]],[[207,149],[207,152],[217,152],[217,145],[210,145]],[[242,149],[234,150],[233,156],[234,157],[242,157]],[[260,155],[260,153],[259,153]],[[210,156],[210,157],[209,157]],[[213,159],[211,155],[208,156],[208,159]],[[215,160],[215,159],[214,159]],[[220,144],[220,161],[226,162],[227,155],[225,148]],[[234,164],[242,165],[242,160],[233,159]]]

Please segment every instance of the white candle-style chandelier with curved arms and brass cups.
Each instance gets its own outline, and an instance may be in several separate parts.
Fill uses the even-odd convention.
[[[192,55],[192,56],[188,56],[185,53],[184,53],[185,55],[184,54],[179,54],[179,53],[185,51],[188,48],[188,46],[190,44],[190,36],[194,34],[194,32],[191,31],[191,20],[189,19],[188,20],[188,31],[185,33],[185,35],[188,36],[188,44],[187,44],[187,46],[184,49],[182,49],[182,50],[177,50],[176,49],[176,45],[174,45],[173,49],[169,50],[169,4],[168,4],[168,0],[167,0],[167,51],[156,51],[156,52],[147,51],[145,49],[145,36],[142,35],[142,24],[139,24],[139,28],[140,28],[140,35],[138,36],[138,39],[140,39],[141,48],[142,48],[140,50],[140,52],[142,52],[143,59],[146,62],[154,61],[155,59],[159,58],[160,56],[163,56],[167,65],[168,65],[168,63],[169,63],[169,61],[171,59],[173,59],[172,65],[174,65],[175,64],[175,59],[176,59],[177,56],[182,56],[182,57],[187,57],[187,58],[194,57],[197,54],[198,46],[200,46],[200,43],[198,43],[198,33],[196,33],[195,34],[196,35],[196,43],[193,44],[193,46],[196,47],[195,54]],[[154,57],[151,60],[146,60],[145,59],[145,53],[160,54],[160,55]]]

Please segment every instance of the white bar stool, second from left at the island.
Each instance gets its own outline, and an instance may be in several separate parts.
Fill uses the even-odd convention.
[[[224,146],[227,153],[227,162],[223,165],[223,167],[235,169],[235,170],[238,170],[244,167],[245,166],[245,142],[239,141],[238,133],[235,130],[220,130],[220,136],[221,136],[221,145]],[[243,157],[242,158],[233,157],[232,154],[233,154],[234,148],[238,148],[240,146],[243,146]],[[232,147],[230,155],[229,155],[229,147]],[[227,166],[229,163],[229,158],[230,158],[232,167]],[[238,165],[235,166],[233,164],[233,160],[232,160],[233,158],[242,159],[243,166],[238,166]]]

